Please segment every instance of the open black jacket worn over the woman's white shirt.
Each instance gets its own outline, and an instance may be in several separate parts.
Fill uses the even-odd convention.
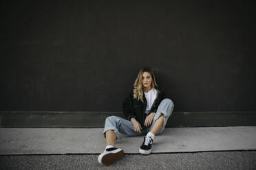
[[[155,89],[158,91],[158,94],[156,95],[155,101],[153,101],[150,112],[156,112],[161,101],[167,98],[161,88],[155,87]],[[138,99],[134,99],[134,90],[131,90],[131,93],[122,104],[122,109],[127,120],[130,121],[131,118],[134,117],[140,123],[142,129],[146,129],[147,127],[145,127],[144,122],[147,117],[147,114],[145,113],[145,110],[147,108],[147,99],[145,98],[144,93],[143,101],[144,102]]]

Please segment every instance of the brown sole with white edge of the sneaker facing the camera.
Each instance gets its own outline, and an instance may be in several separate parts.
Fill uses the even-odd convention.
[[[122,156],[124,154],[125,154],[124,151],[120,150],[120,151],[117,151],[116,153],[106,154],[106,155],[102,156],[102,158],[100,158],[100,156],[99,156],[98,162],[100,162],[100,164],[102,164],[102,165],[111,165],[114,162],[116,162],[117,160],[120,160],[120,158],[122,158]]]

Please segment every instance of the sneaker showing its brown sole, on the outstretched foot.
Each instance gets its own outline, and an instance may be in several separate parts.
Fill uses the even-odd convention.
[[[124,155],[124,151],[120,148],[110,147],[105,149],[102,154],[98,156],[98,162],[102,165],[111,165],[117,160],[120,160]]]

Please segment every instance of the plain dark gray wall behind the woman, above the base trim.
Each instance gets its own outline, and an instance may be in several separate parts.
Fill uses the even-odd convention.
[[[121,111],[151,66],[175,111],[255,111],[246,1],[0,3],[0,110]]]

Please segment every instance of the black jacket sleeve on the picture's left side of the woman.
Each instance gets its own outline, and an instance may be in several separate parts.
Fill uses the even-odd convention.
[[[134,107],[132,105],[132,93],[125,99],[125,101],[122,104],[122,110],[123,113],[125,114],[125,117],[127,120],[131,120],[132,117],[136,119],[136,116],[134,115]]]

